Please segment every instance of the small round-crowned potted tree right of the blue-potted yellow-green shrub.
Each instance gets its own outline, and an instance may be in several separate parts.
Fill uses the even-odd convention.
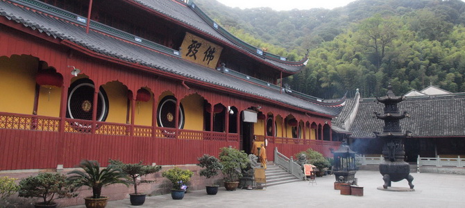
[[[221,168],[223,168],[223,165],[219,162],[219,159],[211,155],[203,154],[203,156],[198,157],[197,160],[197,165],[203,168],[199,172],[199,175],[205,176],[207,178],[218,175],[219,171],[221,171]],[[205,186],[205,189],[207,190],[208,195],[216,195],[218,193],[218,187],[219,185],[213,183],[211,185]]]

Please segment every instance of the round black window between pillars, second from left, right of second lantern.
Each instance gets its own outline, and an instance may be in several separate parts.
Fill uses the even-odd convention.
[[[158,104],[157,112],[157,123],[158,126],[164,128],[174,128],[176,126],[176,98],[174,96],[166,96]],[[178,115],[178,128],[184,128],[184,108],[183,105],[179,105]]]

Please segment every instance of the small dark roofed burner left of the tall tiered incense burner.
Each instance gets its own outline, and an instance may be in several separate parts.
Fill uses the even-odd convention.
[[[355,166],[355,152],[350,150],[350,147],[344,141],[332,153],[335,158],[334,166],[332,167],[336,177],[335,189],[339,190],[341,184],[356,184],[355,173],[357,172],[357,166]]]

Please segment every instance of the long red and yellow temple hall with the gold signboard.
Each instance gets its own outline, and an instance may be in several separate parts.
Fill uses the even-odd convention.
[[[330,156],[344,106],[281,85],[291,61],[251,46],[192,1],[1,0],[0,173],[81,159],[196,164],[256,138]]]

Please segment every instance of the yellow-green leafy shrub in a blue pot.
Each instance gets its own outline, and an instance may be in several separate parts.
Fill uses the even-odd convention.
[[[187,189],[187,182],[194,173],[189,170],[182,170],[181,168],[174,167],[168,171],[162,173],[163,177],[166,177],[171,184],[173,184],[173,189],[171,189],[171,198],[174,200],[182,200],[184,198],[184,193]]]

